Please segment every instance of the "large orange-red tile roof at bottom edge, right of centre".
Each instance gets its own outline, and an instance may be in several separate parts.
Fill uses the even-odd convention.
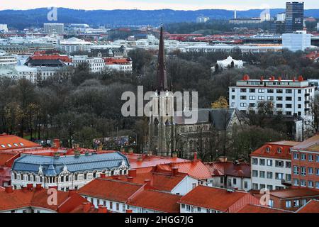
[[[258,199],[247,192],[229,192],[227,189],[199,185],[181,197],[179,203],[227,212],[230,206],[244,197],[247,198],[245,199],[247,204],[257,204],[259,202]]]

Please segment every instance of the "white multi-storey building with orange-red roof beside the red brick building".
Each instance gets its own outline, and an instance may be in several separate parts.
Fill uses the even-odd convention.
[[[279,190],[291,186],[290,148],[298,142],[281,141],[266,143],[255,150],[251,157],[252,189]]]

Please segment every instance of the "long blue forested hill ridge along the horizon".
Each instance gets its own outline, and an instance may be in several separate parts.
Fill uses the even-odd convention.
[[[23,29],[30,26],[43,26],[47,23],[47,12],[49,10],[4,10],[0,11],[0,23],[7,23],[9,27]],[[272,16],[284,12],[284,9],[271,9]],[[251,9],[248,11],[237,11],[237,17],[259,16],[262,10]],[[160,23],[177,23],[196,21],[196,17],[203,15],[211,19],[233,18],[233,11],[223,9],[205,9],[197,11],[175,11],[171,9],[162,10],[75,10],[59,8],[57,18],[59,23],[88,23],[92,26],[156,26]],[[319,18],[319,9],[305,10],[306,16]]]

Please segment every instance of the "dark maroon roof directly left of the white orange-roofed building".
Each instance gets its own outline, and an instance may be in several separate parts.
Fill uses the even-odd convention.
[[[250,177],[250,164],[236,162],[208,162],[212,176]]]

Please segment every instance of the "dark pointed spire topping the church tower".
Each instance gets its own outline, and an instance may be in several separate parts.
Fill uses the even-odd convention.
[[[167,74],[165,68],[165,48],[163,26],[161,26],[161,34],[159,37],[158,63],[157,63],[157,92],[164,92],[168,90]]]

